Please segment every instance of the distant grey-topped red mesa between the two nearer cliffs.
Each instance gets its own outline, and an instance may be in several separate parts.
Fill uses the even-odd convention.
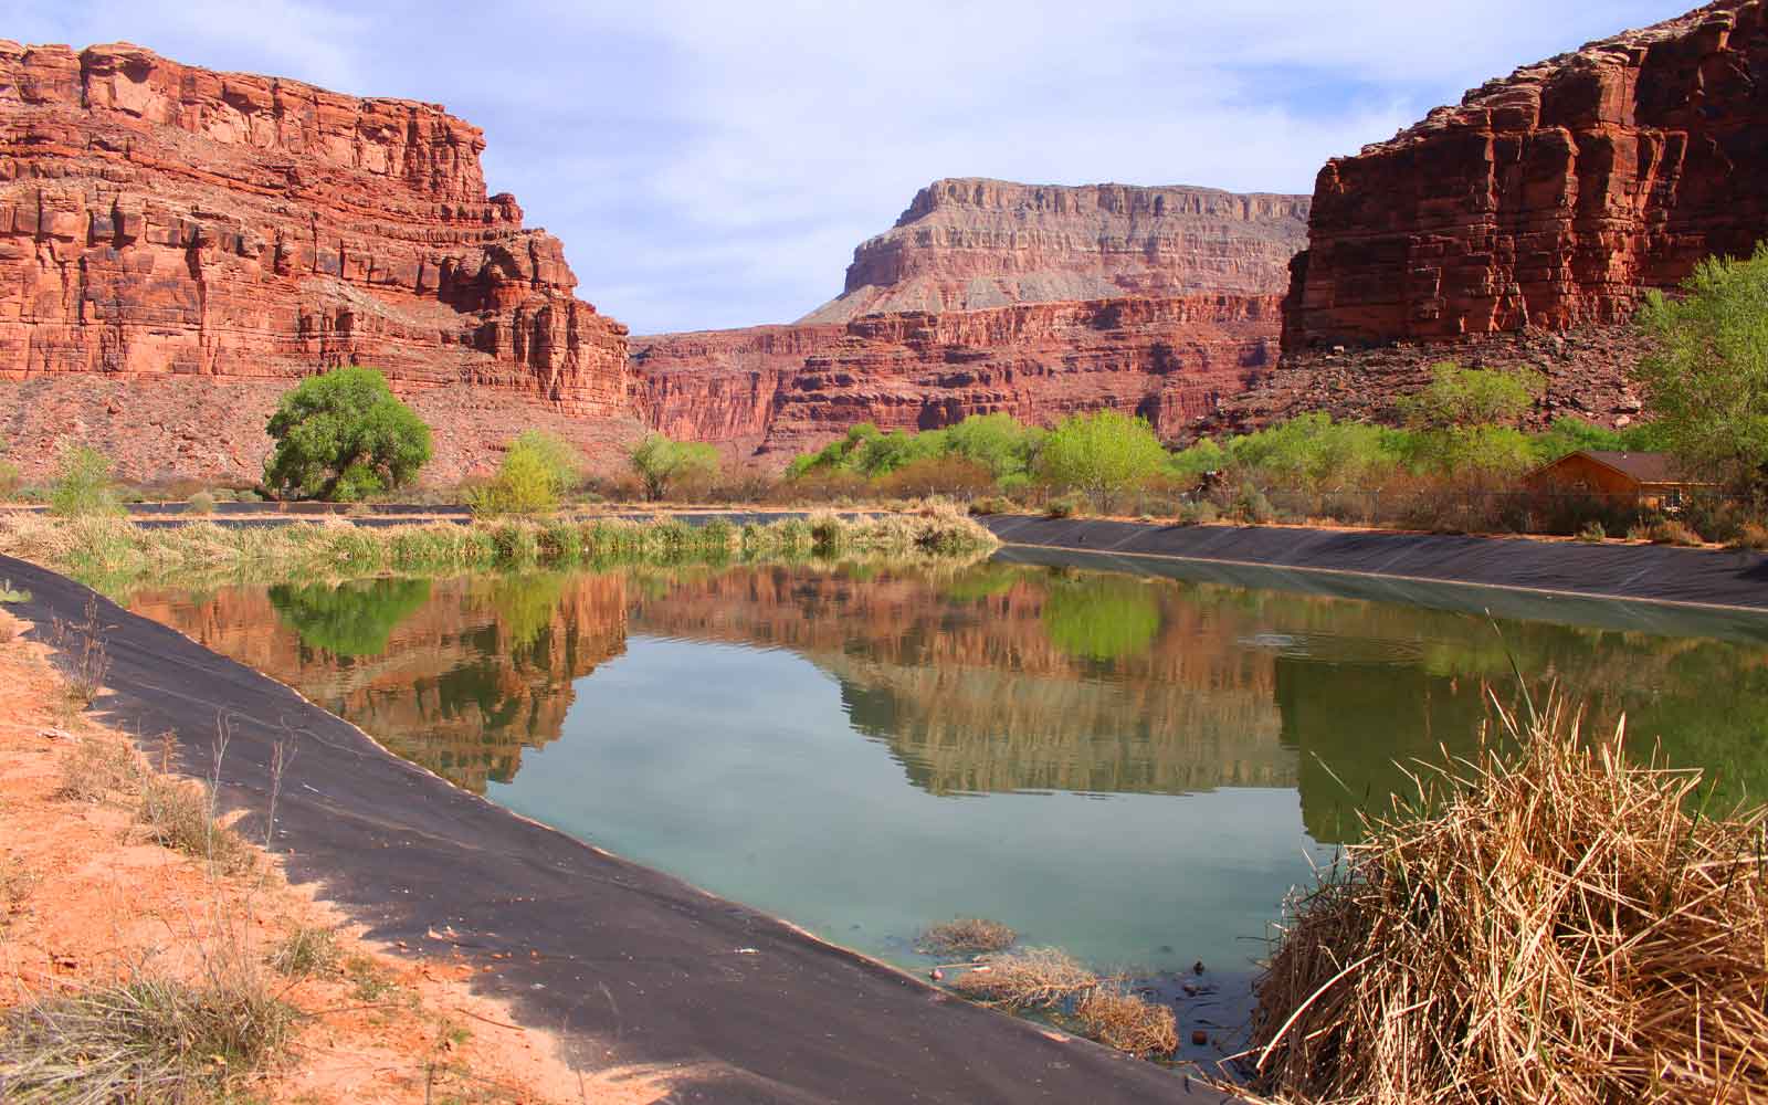
[[[1268,371],[1305,196],[941,180],[783,327],[633,339],[672,435],[774,463],[863,421],[1142,414],[1179,437]]]

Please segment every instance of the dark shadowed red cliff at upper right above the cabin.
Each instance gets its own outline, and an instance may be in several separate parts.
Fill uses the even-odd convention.
[[[1768,235],[1764,72],[1763,4],[1724,0],[1526,65],[1328,163],[1285,304],[1292,378],[1278,384],[1330,405],[1321,350],[1425,345],[1420,377],[1444,355],[1432,347],[1469,343],[1476,359],[1545,368],[1565,410],[1625,414],[1641,347],[1600,327]],[[1605,366],[1536,355],[1528,338],[1588,327],[1612,347]]]

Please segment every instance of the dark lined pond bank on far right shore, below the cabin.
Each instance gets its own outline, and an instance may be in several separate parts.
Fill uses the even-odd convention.
[[[1017,514],[979,522],[1006,545],[1036,548],[1768,610],[1768,557],[1754,552]]]

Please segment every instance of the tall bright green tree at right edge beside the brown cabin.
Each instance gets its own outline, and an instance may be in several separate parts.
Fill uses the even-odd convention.
[[[1639,324],[1655,350],[1639,364],[1657,424],[1690,470],[1749,490],[1768,484],[1768,244],[1750,260],[1701,262],[1683,297],[1653,292]]]

